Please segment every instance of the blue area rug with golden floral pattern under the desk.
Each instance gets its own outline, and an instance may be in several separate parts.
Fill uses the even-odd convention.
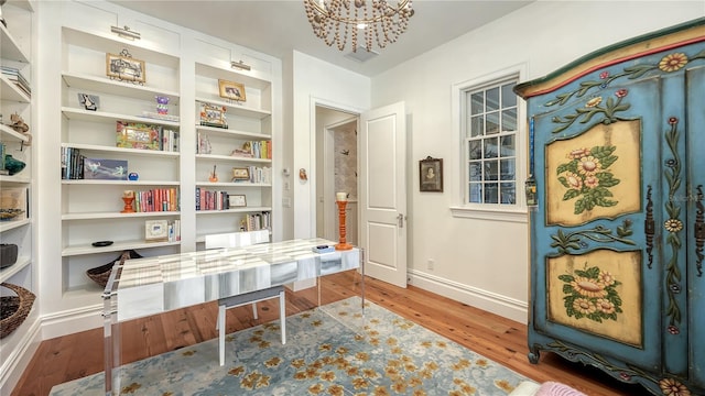
[[[518,373],[359,297],[127,364],[121,395],[507,395]],[[51,395],[105,395],[98,373]],[[115,391],[113,391],[115,392]]]

